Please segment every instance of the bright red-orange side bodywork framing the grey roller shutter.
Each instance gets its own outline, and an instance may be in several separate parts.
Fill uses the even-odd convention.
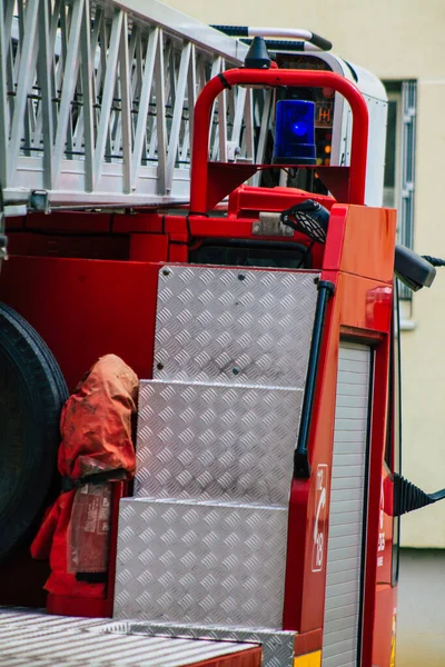
[[[350,212],[350,209],[353,211]],[[347,225],[352,227],[348,231]],[[333,223],[334,222],[334,223]],[[364,627],[375,616],[382,465],[386,437],[388,340],[392,321],[392,279],[395,219],[379,209],[336,206],[329,223],[322,279],[336,285],[325,325],[309,436],[313,470],[329,467],[334,436],[338,342],[342,331],[378,344],[370,434],[368,538]],[[383,248],[378,256],[376,248]],[[374,279],[362,276],[370,275]],[[285,629],[308,633],[323,627],[326,573],[312,571],[315,476],[294,480],[290,494]],[[328,516],[328,512],[327,512]],[[301,527],[305,526],[305,530]],[[327,522],[325,527],[327,535]],[[326,560],[326,554],[325,554]],[[385,628],[390,633],[390,626]],[[370,666],[373,633],[364,634],[364,667]],[[322,643],[319,647],[320,648]]]

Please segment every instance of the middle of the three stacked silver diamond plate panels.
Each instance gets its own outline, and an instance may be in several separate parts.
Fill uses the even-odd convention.
[[[303,391],[142,381],[135,496],[286,507]]]

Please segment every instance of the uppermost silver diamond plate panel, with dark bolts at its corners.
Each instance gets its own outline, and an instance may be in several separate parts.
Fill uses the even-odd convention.
[[[303,388],[315,272],[164,267],[154,377]]]

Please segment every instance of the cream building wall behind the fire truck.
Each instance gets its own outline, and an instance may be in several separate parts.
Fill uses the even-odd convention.
[[[445,257],[445,2],[443,0],[168,0],[208,23],[295,27],[334,43],[342,58],[380,79],[416,79],[418,117],[415,249]],[[409,315],[409,313],[408,313]],[[445,268],[414,296],[403,332],[403,471],[426,491],[445,487]],[[445,547],[445,502],[404,518],[402,540]]]

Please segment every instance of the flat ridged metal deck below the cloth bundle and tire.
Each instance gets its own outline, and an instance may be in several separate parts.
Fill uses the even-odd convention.
[[[160,636],[162,635],[162,636]],[[113,631],[109,621],[65,618],[0,609],[0,665],[3,667],[231,667],[237,656],[256,654],[255,644],[150,634],[136,628]],[[258,649],[259,654],[259,649]],[[254,656],[255,657],[255,656]],[[259,665],[251,661],[251,665]]]

